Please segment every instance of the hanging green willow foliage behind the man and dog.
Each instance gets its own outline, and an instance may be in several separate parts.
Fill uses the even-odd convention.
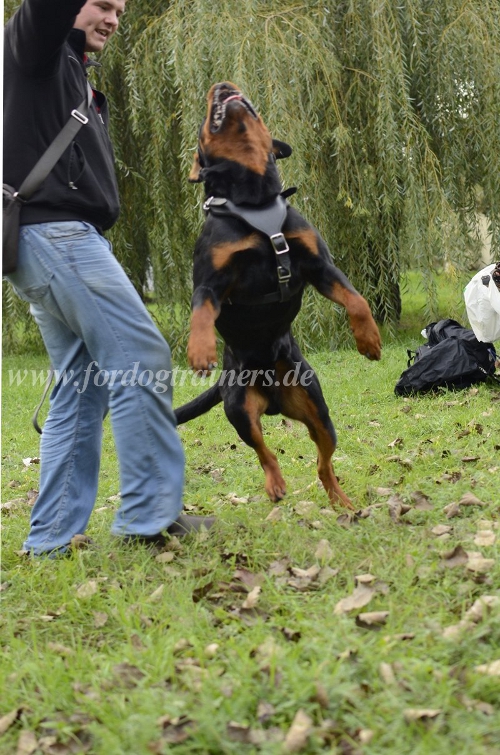
[[[187,175],[216,81],[293,146],[291,201],[380,321],[397,323],[410,268],[434,314],[432,271],[470,265],[478,192],[500,248],[498,0],[129,0],[101,62],[123,206],[112,240],[138,289],[153,281],[173,345],[203,220]],[[309,292],[295,331],[327,348],[346,323]]]

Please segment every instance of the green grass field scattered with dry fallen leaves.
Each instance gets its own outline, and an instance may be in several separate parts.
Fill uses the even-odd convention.
[[[357,515],[331,509],[305,428],[279,417],[266,438],[289,493],[270,503],[217,407],[180,432],[187,508],[218,525],[158,557],[109,535],[108,421],[97,548],[18,555],[39,472],[30,381],[48,365],[4,359],[2,755],[500,754],[500,391],[394,395],[427,324],[412,285],[380,363],[308,355]]]

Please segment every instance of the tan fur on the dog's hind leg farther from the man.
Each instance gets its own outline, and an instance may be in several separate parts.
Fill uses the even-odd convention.
[[[307,391],[300,385],[283,387],[280,392],[283,414],[302,422],[309,431],[311,440],[318,449],[318,476],[328,493],[332,505],[354,510],[348,496],[344,493],[335,476],[332,456],[335,443],[328,428],[318,416],[318,410]]]

